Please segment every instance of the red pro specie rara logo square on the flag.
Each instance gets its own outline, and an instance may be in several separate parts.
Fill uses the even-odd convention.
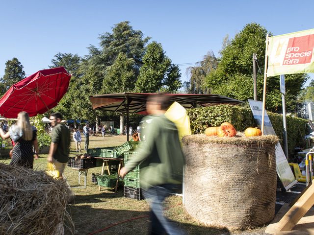
[[[283,65],[310,63],[314,48],[314,34],[289,38]]]

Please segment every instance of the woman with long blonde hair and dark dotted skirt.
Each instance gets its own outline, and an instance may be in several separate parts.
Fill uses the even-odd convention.
[[[0,128],[0,136],[2,139],[11,138],[14,141],[10,164],[33,168],[33,145],[36,151],[36,159],[38,159],[39,153],[36,139],[37,130],[30,125],[29,116],[26,112],[18,114],[16,125],[12,125],[7,133],[4,133]]]

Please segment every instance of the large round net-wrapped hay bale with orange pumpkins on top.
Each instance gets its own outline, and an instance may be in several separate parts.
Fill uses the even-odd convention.
[[[275,215],[276,136],[183,137],[184,206],[208,225],[259,226]]]

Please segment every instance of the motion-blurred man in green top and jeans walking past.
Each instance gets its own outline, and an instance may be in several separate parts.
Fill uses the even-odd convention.
[[[141,164],[140,178],[143,195],[150,199],[151,234],[185,234],[163,215],[163,201],[174,188],[182,183],[184,156],[178,129],[164,116],[170,106],[169,96],[150,95],[146,103],[149,116],[144,118],[145,141],[125,167],[120,170],[124,177],[136,165]],[[144,123],[143,123],[144,124]]]

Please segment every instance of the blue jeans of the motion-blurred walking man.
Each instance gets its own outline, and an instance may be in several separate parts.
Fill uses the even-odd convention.
[[[147,190],[143,190],[144,197],[149,199],[151,211],[151,235],[185,235],[185,233],[177,228],[173,222],[169,221],[163,215],[163,201],[169,196],[172,188],[176,185],[164,184],[154,186]]]

